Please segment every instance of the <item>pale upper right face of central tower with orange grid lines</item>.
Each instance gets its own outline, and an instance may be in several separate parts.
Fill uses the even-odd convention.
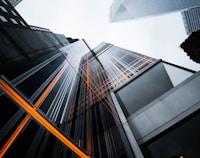
[[[118,47],[111,48],[98,58],[109,76],[109,79],[105,81],[109,91],[117,90],[157,61]]]

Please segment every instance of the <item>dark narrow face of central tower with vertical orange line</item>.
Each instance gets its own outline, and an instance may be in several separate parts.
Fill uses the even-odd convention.
[[[123,150],[121,154],[126,157],[124,145],[116,144],[113,139],[119,132],[118,129],[113,131],[114,127],[121,127],[121,122],[108,89],[100,86],[109,75],[105,74],[101,63],[91,52],[82,58],[78,72],[79,81],[76,82],[78,84],[72,94],[68,111],[70,127],[75,128],[74,132],[70,131],[71,137],[78,136],[79,139],[76,138],[75,142],[87,150],[89,155],[92,153],[93,156],[101,157],[104,153],[103,157],[108,157],[110,154],[113,154],[111,157],[117,157],[115,149],[121,148]],[[120,133],[118,136],[120,140]],[[104,146],[109,147],[106,149]]]

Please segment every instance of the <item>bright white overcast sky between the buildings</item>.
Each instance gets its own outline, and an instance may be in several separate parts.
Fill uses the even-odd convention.
[[[187,38],[180,12],[110,23],[114,0],[23,0],[17,11],[30,25],[66,37],[84,38],[91,48],[101,42],[163,59],[196,71],[200,64],[180,48]]]

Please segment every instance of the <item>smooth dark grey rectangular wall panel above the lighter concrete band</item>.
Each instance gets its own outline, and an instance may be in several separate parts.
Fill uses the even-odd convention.
[[[129,116],[171,88],[171,80],[160,62],[118,90],[116,95]]]

